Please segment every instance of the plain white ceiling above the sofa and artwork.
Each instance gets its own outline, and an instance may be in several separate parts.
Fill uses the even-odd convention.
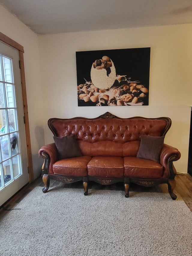
[[[38,34],[192,23],[192,0],[0,0],[0,4]]]

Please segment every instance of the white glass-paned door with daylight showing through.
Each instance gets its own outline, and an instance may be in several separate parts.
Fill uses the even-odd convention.
[[[0,42],[0,206],[29,182],[19,53]]]

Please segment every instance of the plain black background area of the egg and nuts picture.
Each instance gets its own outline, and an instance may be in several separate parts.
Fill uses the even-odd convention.
[[[139,80],[149,89],[150,47],[76,52],[77,85],[91,81],[91,66],[103,56],[113,61],[116,75],[127,75],[130,81]],[[149,97],[144,102],[144,105],[148,104]]]

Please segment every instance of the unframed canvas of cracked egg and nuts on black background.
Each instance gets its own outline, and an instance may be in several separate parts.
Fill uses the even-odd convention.
[[[76,52],[78,106],[149,105],[150,47]]]

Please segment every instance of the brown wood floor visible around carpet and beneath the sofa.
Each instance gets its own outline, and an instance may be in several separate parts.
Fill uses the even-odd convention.
[[[192,177],[187,174],[180,174],[178,173],[175,177],[176,180],[176,188],[174,189],[175,193],[179,193],[186,203],[186,205],[189,207],[189,209],[192,211]],[[7,215],[11,209],[16,209],[16,205],[35,187],[41,186],[44,187],[44,183],[42,181],[42,177],[39,176],[32,184],[26,185],[21,191],[19,191],[7,204],[5,204],[0,209],[0,219],[3,218],[5,215]],[[82,187],[82,181],[71,183],[71,184],[64,184],[62,182],[50,180],[50,186],[54,187],[62,187],[62,188],[82,188],[83,193],[83,187]],[[123,183],[116,183],[112,185],[100,185],[96,182],[89,182],[89,189],[95,188],[95,189],[106,189],[106,190],[122,190],[124,191],[124,185]],[[158,192],[158,193],[168,193],[167,184],[161,184],[156,185],[153,187],[143,187],[141,185],[133,184],[131,183],[129,191],[136,191],[136,192]],[[43,192],[42,192],[43,193]],[[170,200],[171,197],[170,197]]]

